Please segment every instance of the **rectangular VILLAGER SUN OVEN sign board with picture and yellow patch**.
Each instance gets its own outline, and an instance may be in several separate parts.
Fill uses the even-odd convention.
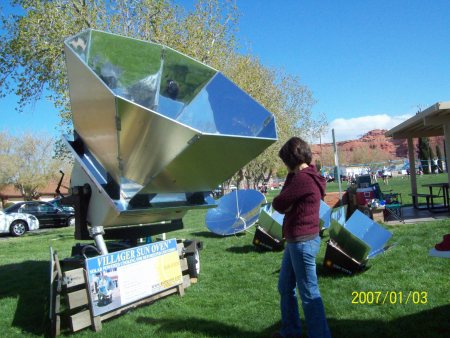
[[[86,270],[93,316],[183,283],[175,239],[89,258]]]

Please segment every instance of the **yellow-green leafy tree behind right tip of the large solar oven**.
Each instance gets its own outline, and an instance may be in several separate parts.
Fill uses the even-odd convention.
[[[275,115],[278,134],[278,142],[235,177],[239,181],[250,175],[255,182],[267,182],[282,165],[278,158],[280,147],[292,136],[312,140],[319,130],[325,129],[326,120],[323,116],[318,120],[313,118],[311,108],[315,100],[298,77],[264,67],[257,58],[249,55],[232,55],[229,61],[225,75]]]

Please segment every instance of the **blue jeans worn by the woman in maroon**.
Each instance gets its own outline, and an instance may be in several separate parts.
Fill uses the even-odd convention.
[[[305,242],[286,243],[278,281],[281,296],[280,333],[283,337],[300,337],[302,333],[296,286],[300,292],[308,337],[331,337],[317,283],[316,255],[319,248],[319,236]]]

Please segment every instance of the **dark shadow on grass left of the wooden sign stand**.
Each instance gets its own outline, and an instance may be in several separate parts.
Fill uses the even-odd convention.
[[[2,266],[0,299],[17,299],[16,308],[10,309],[13,327],[35,335],[48,332],[49,271],[50,263],[43,261]]]

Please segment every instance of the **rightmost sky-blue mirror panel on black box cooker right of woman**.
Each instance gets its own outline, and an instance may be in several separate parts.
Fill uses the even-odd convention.
[[[359,210],[352,214],[344,226],[353,235],[370,246],[369,258],[382,253],[387,241],[392,237],[391,232]]]

